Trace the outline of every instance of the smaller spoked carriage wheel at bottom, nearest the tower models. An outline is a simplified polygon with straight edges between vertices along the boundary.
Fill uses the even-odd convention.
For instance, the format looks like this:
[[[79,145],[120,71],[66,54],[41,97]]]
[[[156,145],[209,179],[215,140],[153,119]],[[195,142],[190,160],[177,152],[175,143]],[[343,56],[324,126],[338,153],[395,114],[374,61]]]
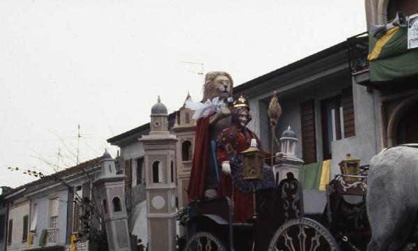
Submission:
[[[205,231],[192,235],[187,241],[184,251],[226,251],[219,238]]]

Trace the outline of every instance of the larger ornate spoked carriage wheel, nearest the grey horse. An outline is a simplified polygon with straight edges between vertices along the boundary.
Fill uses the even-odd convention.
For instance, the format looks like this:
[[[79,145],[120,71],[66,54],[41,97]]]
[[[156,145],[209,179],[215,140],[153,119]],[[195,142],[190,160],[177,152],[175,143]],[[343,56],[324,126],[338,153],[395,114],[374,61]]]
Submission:
[[[269,251],[339,251],[330,231],[309,218],[295,218],[281,225],[268,247]]]

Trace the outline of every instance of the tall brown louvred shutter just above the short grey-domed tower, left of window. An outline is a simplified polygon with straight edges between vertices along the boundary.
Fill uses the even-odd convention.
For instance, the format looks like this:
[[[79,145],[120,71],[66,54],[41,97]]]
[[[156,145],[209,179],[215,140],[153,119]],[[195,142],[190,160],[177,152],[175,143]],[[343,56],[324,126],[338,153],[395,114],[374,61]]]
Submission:
[[[316,162],[315,103],[314,100],[300,104],[302,130],[302,158],[304,164]]]

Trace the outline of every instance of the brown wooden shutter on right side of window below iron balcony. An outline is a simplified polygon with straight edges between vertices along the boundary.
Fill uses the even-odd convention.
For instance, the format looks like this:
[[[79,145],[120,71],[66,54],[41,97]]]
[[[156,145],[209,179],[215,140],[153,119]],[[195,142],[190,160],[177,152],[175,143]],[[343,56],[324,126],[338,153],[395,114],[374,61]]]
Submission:
[[[353,89],[342,90],[341,102],[343,105],[344,137],[355,136]]]

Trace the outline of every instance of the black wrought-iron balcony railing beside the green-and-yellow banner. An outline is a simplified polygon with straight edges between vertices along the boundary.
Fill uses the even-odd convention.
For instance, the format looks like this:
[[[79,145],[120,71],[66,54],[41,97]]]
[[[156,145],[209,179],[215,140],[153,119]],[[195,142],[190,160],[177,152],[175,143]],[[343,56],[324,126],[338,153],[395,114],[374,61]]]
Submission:
[[[363,70],[369,69],[369,36],[366,32],[347,38],[348,56],[350,60],[351,74],[355,75]]]

